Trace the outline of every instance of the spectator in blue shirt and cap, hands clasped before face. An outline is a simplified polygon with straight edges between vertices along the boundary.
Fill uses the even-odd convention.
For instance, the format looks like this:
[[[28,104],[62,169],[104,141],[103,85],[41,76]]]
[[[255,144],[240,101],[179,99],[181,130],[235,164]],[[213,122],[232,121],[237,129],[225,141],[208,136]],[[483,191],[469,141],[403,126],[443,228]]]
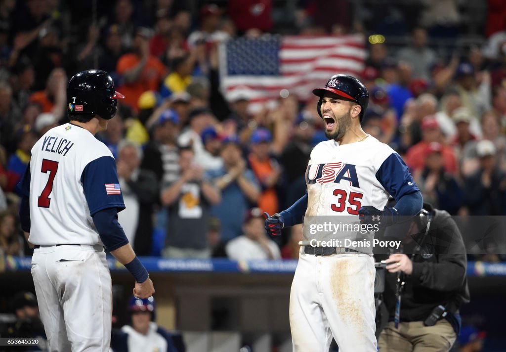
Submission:
[[[260,185],[243,159],[237,136],[227,136],[222,140],[220,155],[223,167],[207,172],[222,195],[221,203],[214,206],[211,213],[220,219],[223,240],[229,241],[242,234],[244,214],[251,203],[258,202]]]

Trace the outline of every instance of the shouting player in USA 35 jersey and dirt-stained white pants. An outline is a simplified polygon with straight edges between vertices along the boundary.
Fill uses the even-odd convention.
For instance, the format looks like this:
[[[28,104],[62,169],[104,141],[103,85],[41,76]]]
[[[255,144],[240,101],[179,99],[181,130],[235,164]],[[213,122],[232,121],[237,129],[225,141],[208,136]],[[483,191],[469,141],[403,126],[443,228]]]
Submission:
[[[290,292],[293,350],[327,352],[333,337],[340,352],[374,352],[371,246],[344,241],[371,241],[373,231],[338,231],[340,242],[331,242],[333,234],[310,231],[310,225],[330,220],[387,226],[401,215],[417,214],[423,201],[399,154],[362,130],[368,93],[360,81],[337,74],[313,94],[320,98],[318,113],[329,140],[311,152],[304,197],[266,220],[272,236],[279,236],[283,227],[304,222]],[[395,198],[395,208],[386,207],[389,196]]]

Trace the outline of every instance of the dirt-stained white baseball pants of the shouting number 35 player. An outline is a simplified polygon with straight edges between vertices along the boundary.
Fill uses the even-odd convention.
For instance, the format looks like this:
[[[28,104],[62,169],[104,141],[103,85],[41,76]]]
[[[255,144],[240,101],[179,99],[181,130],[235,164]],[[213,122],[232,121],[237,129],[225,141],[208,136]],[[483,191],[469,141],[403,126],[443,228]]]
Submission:
[[[367,254],[305,254],[290,292],[294,352],[376,352],[374,259]]]

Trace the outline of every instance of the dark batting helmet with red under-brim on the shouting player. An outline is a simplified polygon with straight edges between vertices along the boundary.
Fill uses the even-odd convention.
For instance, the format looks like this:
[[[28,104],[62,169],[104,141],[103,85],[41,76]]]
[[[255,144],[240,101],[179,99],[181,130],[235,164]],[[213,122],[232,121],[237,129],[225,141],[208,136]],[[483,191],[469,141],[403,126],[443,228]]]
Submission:
[[[323,88],[313,89],[313,94],[320,98],[318,101],[318,114],[321,115],[322,97],[326,92],[339,95],[342,99],[353,101],[362,107],[360,111],[360,121],[364,117],[367,104],[369,103],[369,93],[365,86],[355,77],[347,74],[334,74],[327,81]]]

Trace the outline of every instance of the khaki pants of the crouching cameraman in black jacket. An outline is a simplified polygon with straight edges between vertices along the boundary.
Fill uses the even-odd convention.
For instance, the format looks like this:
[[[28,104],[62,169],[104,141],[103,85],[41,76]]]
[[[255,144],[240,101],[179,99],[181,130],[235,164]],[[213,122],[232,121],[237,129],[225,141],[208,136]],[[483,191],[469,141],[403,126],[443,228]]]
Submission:
[[[447,352],[457,336],[447,320],[441,319],[434,326],[423,322],[388,323],[378,338],[379,352]]]

